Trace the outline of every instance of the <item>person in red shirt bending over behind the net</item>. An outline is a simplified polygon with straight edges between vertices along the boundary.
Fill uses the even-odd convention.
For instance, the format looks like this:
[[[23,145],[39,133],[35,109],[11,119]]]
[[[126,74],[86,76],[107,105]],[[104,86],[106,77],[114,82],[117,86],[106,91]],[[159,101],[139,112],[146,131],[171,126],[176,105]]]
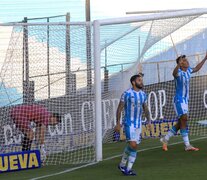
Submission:
[[[58,113],[50,113],[42,105],[19,105],[13,107],[10,111],[11,118],[16,127],[23,133],[22,151],[30,151],[34,135],[39,144],[41,160],[46,160],[46,150],[44,145],[46,127],[48,125],[57,125],[61,122],[61,116]],[[31,128],[31,122],[36,124],[36,131]]]

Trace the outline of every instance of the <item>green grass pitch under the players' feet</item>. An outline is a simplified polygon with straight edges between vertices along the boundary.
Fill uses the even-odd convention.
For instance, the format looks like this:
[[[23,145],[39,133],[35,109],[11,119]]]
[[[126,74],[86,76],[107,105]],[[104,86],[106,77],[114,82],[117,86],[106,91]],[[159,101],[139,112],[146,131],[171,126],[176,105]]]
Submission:
[[[104,161],[72,172],[63,172],[70,168],[69,165],[45,166],[35,170],[25,170],[0,174],[1,180],[24,180],[41,176],[43,179],[61,180],[205,180],[207,179],[207,139],[191,137],[192,144],[200,148],[198,152],[185,152],[182,139],[173,138],[168,152],[160,148],[159,139],[143,140],[140,144],[138,158],[133,169],[138,173],[136,177],[126,177],[117,169],[120,157],[126,143],[113,143],[104,145]],[[113,157],[113,158],[111,158]]]

